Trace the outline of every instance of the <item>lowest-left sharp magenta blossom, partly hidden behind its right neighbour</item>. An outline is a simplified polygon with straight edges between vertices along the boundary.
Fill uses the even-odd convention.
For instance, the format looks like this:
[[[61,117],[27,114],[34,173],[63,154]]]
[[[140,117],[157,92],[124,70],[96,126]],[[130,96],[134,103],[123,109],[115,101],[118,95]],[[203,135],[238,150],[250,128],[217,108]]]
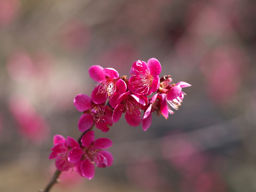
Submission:
[[[79,143],[72,137],[67,137],[67,140],[61,135],[55,135],[53,138],[54,146],[49,159],[56,159],[55,166],[60,171],[67,171],[74,167],[74,163],[68,161],[68,154],[72,148],[79,147]]]

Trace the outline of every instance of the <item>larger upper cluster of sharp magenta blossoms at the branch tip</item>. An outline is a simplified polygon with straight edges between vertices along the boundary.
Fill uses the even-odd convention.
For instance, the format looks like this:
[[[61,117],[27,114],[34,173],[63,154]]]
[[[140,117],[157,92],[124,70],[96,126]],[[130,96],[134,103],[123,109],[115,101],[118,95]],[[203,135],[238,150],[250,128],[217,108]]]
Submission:
[[[91,98],[80,94],[74,99],[74,105],[78,111],[83,112],[78,128],[80,131],[88,130],[93,122],[102,132],[107,132],[109,126],[118,122],[125,113],[126,122],[131,126],[138,126],[142,122],[142,128],[146,131],[152,121],[152,112],[162,114],[166,119],[170,109],[178,109],[185,93],[182,88],[191,86],[186,82],[169,84],[170,76],[161,79],[161,64],[155,58],[148,62],[136,61],[130,70],[131,78],[119,77],[119,73],[112,68],[102,68],[94,65],[89,68],[90,77],[99,82],[92,91]],[[149,95],[156,92],[152,98]],[[105,106],[109,99],[110,106]],[[144,115],[141,117],[141,110]]]

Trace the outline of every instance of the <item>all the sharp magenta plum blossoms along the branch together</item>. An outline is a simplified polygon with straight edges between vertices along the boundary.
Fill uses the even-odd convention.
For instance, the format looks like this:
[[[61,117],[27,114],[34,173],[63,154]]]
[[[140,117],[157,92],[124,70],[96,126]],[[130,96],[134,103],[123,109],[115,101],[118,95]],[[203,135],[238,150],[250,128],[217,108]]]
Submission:
[[[108,138],[94,141],[94,132],[89,131],[95,123],[97,129],[108,132],[109,126],[116,123],[125,113],[126,122],[131,126],[142,123],[146,131],[152,122],[152,113],[168,118],[171,110],[178,109],[185,93],[182,88],[191,86],[186,82],[172,82],[170,75],[159,78],[161,64],[155,58],[148,62],[138,60],[130,70],[131,77],[119,77],[113,68],[102,68],[94,65],[89,68],[89,75],[98,83],[91,97],[79,94],[74,98],[74,106],[83,112],[78,122],[78,129],[86,132],[81,145],[71,137],[65,140],[61,135],[55,135],[53,151],[49,159],[56,159],[58,170],[65,171],[75,167],[77,172],[88,179],[94,176],[94,163],[97,167],[112,165],[113,157],[110,152],[102,151],[112,146]],[[151,98],[149,95],[155,93]],[[109,99],[108,104],[106,104]],[[141,116],[141,110],[144,114]]]

